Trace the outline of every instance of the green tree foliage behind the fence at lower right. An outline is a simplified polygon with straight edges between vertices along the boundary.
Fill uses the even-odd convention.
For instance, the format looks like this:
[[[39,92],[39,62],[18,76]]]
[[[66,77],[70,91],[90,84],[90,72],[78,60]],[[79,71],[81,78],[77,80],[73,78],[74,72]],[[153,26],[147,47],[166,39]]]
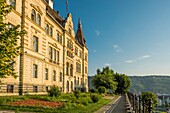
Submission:
[[[152,107],[154,107],[158,103],[156,94],[154,94],[153,92],[142,92],[141,98],[147,105],[149,103],[149,99],[151,99]]]

